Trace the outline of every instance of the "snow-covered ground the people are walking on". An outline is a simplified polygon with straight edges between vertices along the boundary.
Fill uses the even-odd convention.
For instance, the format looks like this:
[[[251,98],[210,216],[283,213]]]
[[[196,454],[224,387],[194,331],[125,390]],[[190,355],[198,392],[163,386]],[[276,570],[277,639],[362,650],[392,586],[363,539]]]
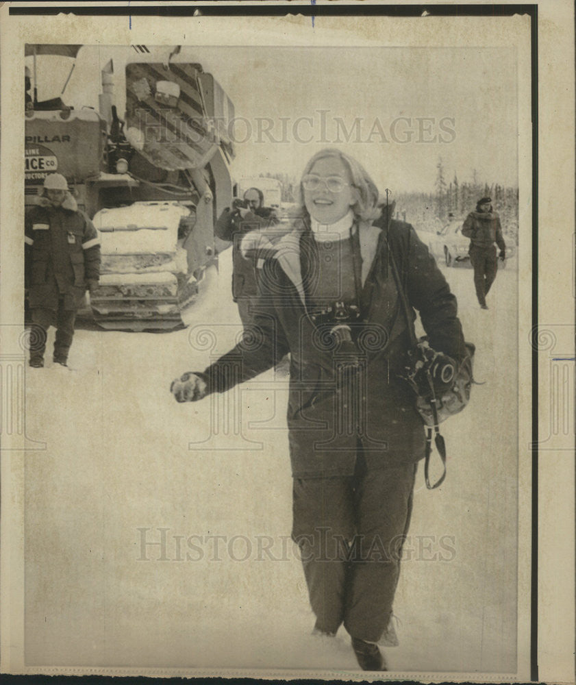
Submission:
[[[27,434],[47,443],[25,464],[29,665],[358,671],[343,629],[328,645],[310,636],[288,538],[286,377],[195,404],[168,392],[240,332],[229,253],[187,329],[81,327],[75,371],[27,370]],[[484,385],[444,424],[444,485],[427,491],[418,471],[401,644],[386,654],[417,677],[504,674],[516,671],[518,274],[499,271],[481,311],[471,269],[442,269]]]

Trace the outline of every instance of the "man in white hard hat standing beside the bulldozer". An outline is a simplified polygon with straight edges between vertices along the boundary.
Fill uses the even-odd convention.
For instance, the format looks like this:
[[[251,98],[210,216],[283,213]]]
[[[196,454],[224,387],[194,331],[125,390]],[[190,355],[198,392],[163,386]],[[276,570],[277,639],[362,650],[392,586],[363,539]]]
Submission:
[[[62,174],[45,178],[38,203],[25,221],[25,282],[34,329],[30,366],[44,366],[47,330],[56,327],[53,361],[67,366],[76,312],[84,292],[97,287],[100,238],[77,208]]]

